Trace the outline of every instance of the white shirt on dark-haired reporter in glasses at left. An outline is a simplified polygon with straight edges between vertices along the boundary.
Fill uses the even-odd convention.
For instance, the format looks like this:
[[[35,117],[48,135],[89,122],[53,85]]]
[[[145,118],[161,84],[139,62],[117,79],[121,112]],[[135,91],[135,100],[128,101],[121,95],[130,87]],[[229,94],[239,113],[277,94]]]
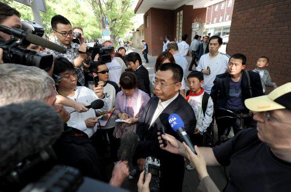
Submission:
[[[73,97],[68,97],[71,100],[75,100],[76,102],[84,103],[85,105],[90,105],[93,101],[99,99],[95,92],[89,88],[77,86],[76,90],[74,91],[75,95]],[[100,109],[101,111],[105,111],[107,109],[108,99],[105,97],[101,99],[104,102],[104,107]],[[69,106],[64,106],[65,110],[69,113],[73,112],[75,109]],[[87,128],[85,124],[85,120],[87,118],[96,118],[95,110],[89,109],[87,112],[78,113],[73,112],[71,113],[70,119],[67,121],[67,125],[69,127],[73,127],[75,129],[79,129],[80,131],[86,133],[90,138],[96,131],[97,125],[94,128]]]

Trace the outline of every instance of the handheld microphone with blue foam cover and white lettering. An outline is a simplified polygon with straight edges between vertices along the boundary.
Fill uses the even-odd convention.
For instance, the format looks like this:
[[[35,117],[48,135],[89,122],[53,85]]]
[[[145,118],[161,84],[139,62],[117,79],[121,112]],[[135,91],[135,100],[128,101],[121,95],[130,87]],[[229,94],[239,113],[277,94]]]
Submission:
[[[194,149],[194,145],[191,142],[188,134],[184,130],[184,123],[183,120],[178,116],[178,114],[173,113],[168,118],[169,123],[172,127],[172,129],[177,132],[180,135],[180,138],[186,143],[186,145],[194,152],[196,153]]]

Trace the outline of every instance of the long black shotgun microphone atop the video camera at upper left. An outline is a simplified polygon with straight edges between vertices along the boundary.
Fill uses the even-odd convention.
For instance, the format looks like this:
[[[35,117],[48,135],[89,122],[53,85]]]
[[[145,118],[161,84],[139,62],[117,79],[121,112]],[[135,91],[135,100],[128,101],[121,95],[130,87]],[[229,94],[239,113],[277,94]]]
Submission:
[[[66,52],[66,49],[63,46],[61,46],[59,44],[52,43],[52,42],[50,42],[42,37],[39,37],[39,36],[34,35],[32,33],[28,33],[24,30],[19,30],[16,28],[9,28],[9,27],[0,25],[0,31],[7,33],[9,35],[14,35],[14,36],[21,38],[21,39],[25,39],[26,41],[28,41],[32,44],[36,44],[36,45],[40,45],[40,46],[52,49],[52,50],[57,51],[59,53]]]

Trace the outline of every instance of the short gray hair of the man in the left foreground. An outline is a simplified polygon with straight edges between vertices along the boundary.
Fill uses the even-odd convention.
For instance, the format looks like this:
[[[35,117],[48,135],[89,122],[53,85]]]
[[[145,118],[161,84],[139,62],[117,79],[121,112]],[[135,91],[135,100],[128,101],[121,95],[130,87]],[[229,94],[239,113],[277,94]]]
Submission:
[[[53,105],[54,80],[42,69],[5,63],[0,65],[0,106],[38,100]]]

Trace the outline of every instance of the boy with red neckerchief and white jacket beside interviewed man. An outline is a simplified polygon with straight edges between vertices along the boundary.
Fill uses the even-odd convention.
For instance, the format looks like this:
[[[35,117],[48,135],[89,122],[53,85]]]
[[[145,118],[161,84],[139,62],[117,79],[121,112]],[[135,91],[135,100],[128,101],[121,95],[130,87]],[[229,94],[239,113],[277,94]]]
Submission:
[[[186,100],[192,106],[197,119],[194,134],[190,136],[194,145],[203,145],[203,133],[212,122],[213,102],[210,95],[201,87],[204,83],[203,73],[193,71],[187,76],[190,90],[187,91]],[[190,162],[186,168],[193,170],[194,166]]]

